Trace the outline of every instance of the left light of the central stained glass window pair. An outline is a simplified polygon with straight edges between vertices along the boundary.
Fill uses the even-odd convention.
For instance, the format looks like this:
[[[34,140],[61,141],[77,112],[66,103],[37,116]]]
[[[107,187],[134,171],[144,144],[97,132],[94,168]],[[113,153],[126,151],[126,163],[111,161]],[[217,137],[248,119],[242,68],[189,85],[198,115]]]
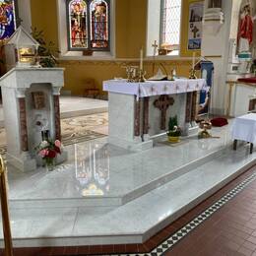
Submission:
[[[73,0],[69,3],[70,47],[88,48],[87,3]]]

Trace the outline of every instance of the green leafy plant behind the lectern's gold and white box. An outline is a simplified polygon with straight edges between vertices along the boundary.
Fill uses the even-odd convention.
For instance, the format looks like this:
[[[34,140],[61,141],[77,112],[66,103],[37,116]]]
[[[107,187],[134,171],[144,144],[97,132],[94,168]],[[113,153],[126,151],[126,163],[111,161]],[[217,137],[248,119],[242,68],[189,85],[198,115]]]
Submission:
[[[53,41],[46,42],[43,31],[38,31],[36,28],[32,29],[32,37],[40,44],[37,50],[39,64],[47,68],[55,67],[56,56],[59,53],[55,43]]]

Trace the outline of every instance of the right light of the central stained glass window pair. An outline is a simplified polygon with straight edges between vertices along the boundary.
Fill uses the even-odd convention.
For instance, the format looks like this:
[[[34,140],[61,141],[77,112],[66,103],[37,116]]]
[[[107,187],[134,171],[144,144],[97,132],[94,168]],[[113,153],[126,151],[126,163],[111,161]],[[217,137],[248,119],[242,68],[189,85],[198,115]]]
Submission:
[[[103,0],[94,0],[90,5],[91,46],[108,47],[108,5]]]

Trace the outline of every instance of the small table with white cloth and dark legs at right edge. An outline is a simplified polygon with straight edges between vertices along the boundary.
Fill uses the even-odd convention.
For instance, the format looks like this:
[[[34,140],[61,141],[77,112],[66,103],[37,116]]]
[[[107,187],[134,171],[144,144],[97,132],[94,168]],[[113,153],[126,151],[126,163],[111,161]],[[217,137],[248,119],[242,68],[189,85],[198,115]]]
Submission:
[[[237,141],[250,143],[250,154],[256,142],[256,113],[249,113],[235,118],[232,127],[233,150],[236,150]]]

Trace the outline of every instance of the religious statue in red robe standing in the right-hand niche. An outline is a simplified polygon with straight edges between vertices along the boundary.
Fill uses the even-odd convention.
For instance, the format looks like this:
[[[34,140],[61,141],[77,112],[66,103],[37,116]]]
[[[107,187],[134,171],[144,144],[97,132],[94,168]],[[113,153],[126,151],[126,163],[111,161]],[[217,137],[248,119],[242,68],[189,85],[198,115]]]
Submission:
[[[253,18],[249,4],[242,7],[238,30],[239,52],[249,51],[253,37]]]

